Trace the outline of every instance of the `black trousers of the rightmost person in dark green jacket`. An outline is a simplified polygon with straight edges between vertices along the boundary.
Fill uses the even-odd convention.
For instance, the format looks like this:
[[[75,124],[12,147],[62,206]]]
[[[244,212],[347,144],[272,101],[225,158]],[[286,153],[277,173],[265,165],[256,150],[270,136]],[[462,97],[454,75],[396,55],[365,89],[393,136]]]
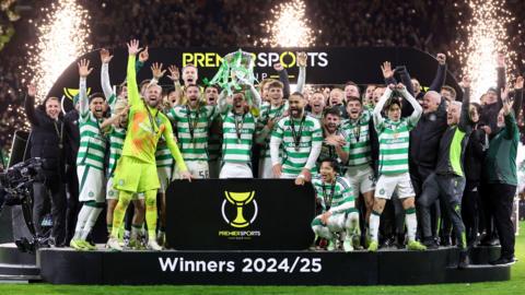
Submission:
[[[512,203],[516,186],[505,184],[489,184],[490,205],[493,209],[494,225],[501,244],[501,257],[514,257],[514,224],[512,223]]]

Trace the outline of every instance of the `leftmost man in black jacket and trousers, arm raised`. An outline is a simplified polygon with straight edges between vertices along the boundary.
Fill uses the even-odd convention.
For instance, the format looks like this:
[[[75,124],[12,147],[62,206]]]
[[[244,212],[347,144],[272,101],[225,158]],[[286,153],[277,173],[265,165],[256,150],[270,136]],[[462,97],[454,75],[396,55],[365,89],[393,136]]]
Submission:
[[[46,203],[51,208],[52,228],[48,241],[42,239],[43,246],[62,246],[65,238],[66,194],[63,179],[63,143],[66,140],[65,125],[60,114],[60,101],[47,97],[43,105],[35,108],[36,87],[27,87],[25,111],[32,126],[30,139],[31,157],[43,160],[43,173],[33,184],[34,208],[33,222],[36,235],[44,237],[42,220]]]

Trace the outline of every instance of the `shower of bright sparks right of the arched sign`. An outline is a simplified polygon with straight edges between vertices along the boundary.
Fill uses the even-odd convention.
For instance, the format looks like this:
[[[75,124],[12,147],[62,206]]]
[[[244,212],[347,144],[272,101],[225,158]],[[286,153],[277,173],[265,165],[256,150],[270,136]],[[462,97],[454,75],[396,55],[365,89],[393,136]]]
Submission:
[[[497,83],[497,56],[506,56],[506,75],[512,79],[517,55],[508,48],[506,26],[514,21],[503,0],[463,0],[471,10],[468,22],[458,28],[468,34],[456,42],[456,56],[463,64],[463,73],[472,80],[472,99],[477,101]],[[457,7],[457,4],[456,4]]]

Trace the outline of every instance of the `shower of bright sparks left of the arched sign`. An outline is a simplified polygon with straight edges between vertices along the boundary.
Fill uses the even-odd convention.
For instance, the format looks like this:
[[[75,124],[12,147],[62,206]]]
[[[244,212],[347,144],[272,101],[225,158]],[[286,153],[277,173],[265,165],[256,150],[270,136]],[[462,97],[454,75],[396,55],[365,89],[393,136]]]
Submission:
[[[25,80],[36,84],[39,99],[71,62],[92,49],[86,42],[90,15],[74,0],[58,0],[42,11],[45,16],[35,23],[38,40],[26,44],[28,71],[23,73]]]

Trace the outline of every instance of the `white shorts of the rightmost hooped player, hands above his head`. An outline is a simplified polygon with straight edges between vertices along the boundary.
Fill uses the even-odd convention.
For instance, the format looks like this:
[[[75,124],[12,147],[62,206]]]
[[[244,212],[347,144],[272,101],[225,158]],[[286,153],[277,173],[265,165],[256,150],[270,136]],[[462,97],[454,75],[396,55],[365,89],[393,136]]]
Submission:
[[[412,181],[408,173],[395,175],[382,175],[375,185],[375,198],[389,200],[392,194],[396,193],[397,198],[405,199],[415,197]]]

